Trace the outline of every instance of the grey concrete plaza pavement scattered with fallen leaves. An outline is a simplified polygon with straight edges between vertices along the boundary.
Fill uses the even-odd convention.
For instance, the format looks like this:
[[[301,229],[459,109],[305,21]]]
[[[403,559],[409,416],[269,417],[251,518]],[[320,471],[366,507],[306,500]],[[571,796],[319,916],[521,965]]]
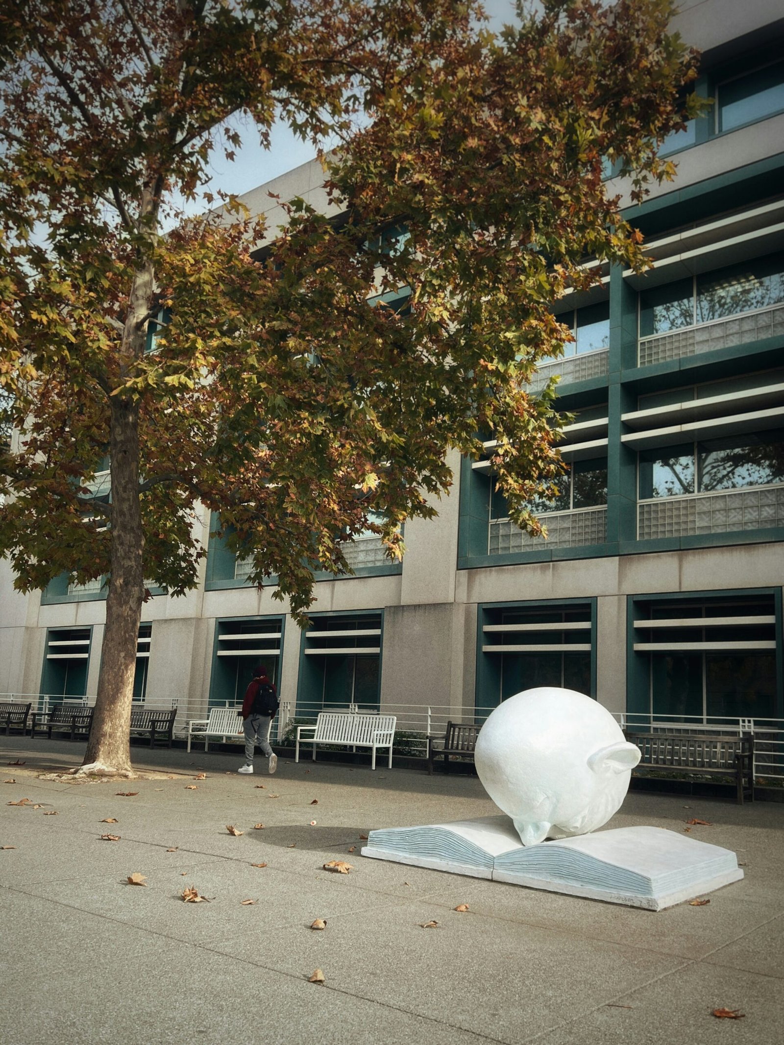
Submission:
[[[16,846],[0,851],[2,1045],[781,1041],[782,805],[629,795],[610,827],[709,820],[692,836],[746,873],[706,906],[653,913],[360,856],[372,828],[493,812],[474,777],[284,759],[238,776],[238,749],[142,747],[155,779],[38,775],[82,751],[0,738],[0,781],[16,780],[0,784],[0,845]],[[185,885],[210,903],[183,903]],[[307,982],[317,968],[324,985]]]

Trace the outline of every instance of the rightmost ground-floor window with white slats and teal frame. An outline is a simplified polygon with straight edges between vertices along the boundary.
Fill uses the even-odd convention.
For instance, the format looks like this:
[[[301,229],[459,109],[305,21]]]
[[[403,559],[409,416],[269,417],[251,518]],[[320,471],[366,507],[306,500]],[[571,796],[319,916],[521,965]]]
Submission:
[[[635,656],[660,720],[761,720],[777,713],[774,596],[635,600]]]

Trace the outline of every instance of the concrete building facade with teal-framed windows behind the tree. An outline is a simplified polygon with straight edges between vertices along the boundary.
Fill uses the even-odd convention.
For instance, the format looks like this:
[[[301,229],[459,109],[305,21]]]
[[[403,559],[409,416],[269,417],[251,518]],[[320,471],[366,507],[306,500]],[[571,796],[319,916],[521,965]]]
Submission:
[[[437,519],[407,524],[402,564],[359,540],[356,576],[318,580],[300,632],[202,513],[198,589],[144,607],[139,699],[199,717],[241,698],[262,658],[291,714],[429,704],[468,720],[563,684],[618,713],[784,718],[780,16],[774,0],[683,4],[676,27],[704,53],[695,90],[714,104],[665,143],[675,182],[625,210],[653,269],[607,269],[559,304],[576,341],[537,381],[560,375],[575,421],[569,480],[541,506],[549,539],[508,520],[488,463],[455,455],[454,489]],[[268,192],[323,207],[321,181],[305,164],[245,202],[274,227]],[[95,694],[98,586],[22,597],[0,568],[0,691]]]

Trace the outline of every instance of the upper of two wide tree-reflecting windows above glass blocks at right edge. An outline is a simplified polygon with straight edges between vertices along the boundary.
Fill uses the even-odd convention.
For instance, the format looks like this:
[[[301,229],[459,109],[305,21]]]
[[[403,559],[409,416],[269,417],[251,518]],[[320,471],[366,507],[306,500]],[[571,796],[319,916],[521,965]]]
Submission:
[[[640,294],[640,336],[667,333],[784,302],[784,253],[768,254]]]

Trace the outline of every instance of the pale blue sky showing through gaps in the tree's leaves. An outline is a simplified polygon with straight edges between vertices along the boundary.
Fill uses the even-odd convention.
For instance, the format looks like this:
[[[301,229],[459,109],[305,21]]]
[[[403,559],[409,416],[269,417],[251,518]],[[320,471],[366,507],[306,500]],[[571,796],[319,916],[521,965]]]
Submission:
[[[493,31],[499,31],[504,24],[514,21],[513,0],[484,0],[484,8]],[[269,149],[259,145],[252,126],[236,122],[233,125],[243,137],[241,148],[235,150],[233,162],[225,159],[220,145],[213,150],[210,162],[212,171],[210,188],[221,188],[226,192],[241,195],[302,163],[307,163],[316,156],[313,145],[297,138],[284,124],[277,123],[273,126]],[[185,209],[194,213],[202,210],[203,206],[201,202],[194,202]]]

